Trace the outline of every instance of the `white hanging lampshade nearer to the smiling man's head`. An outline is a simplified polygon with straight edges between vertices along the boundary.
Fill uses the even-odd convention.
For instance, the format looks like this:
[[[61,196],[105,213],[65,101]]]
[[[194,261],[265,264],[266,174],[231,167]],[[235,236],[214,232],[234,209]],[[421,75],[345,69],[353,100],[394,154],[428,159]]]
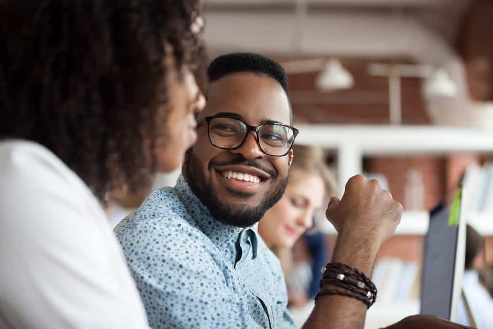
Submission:
[[[330,59],[318,74],[315,84],[320,90],[349,89],[354,85],[354,79],[338,60]]]

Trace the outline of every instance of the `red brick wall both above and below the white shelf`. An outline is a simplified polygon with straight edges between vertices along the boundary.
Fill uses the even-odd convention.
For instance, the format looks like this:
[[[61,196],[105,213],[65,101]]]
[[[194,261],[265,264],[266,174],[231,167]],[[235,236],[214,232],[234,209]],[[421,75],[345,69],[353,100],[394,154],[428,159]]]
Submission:
[[[279,62],[294,58],[278,58]],[[387,78],[368,75],[369,63],[411,63],[406,59],[342,59],[342,64],[354,77],[350,90],[320,92],[315,86],[318,72],[289,75],[290,99],[295,121],[305,123],[386,124],[389,121]],[[403,78],[403,124],[430,124],[421,80]],[[428,157],[367,158],[367,172],[384,174],[395,199],[404,203],[406,173],[418,170],[424,180],[425,209],[431,209],[458,187],[467,164],[479,161],[476,154],[452,154]]]

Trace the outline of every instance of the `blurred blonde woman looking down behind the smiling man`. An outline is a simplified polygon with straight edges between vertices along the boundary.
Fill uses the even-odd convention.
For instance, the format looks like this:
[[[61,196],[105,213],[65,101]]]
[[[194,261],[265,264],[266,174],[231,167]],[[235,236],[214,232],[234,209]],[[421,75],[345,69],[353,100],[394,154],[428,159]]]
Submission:
[[[262,217],[258,233],[280,256],[290,306],[301,307],[318,293],[320,268],[327,263],[324,235],[314,227],[313,219],[334,194],[335,180],[320,148],[294,145],[293,152],[296,156],[286,191]]]

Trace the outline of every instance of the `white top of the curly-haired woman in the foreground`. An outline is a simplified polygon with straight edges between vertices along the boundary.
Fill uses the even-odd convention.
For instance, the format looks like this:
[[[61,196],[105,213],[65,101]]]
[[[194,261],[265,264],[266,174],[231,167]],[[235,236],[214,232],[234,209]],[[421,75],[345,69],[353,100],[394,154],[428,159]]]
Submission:
[[[0,328],[146,328],[98,200],[52,152],[0,142]]]

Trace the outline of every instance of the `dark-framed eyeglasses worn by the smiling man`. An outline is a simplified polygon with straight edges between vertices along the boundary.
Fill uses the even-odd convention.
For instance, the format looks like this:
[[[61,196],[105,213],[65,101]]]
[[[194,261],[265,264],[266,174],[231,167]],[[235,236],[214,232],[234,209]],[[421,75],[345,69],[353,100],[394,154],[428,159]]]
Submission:
[[[253,126],[227,116],[205,117],[198,120],[197,125],[203,122],[207,122],[209,141],[219,149],[238,149],[247,139],[248,133],[255,132],[260,150],[272,156],[287,155],[299,133],[295,127],[287,124],[267,123]]]

